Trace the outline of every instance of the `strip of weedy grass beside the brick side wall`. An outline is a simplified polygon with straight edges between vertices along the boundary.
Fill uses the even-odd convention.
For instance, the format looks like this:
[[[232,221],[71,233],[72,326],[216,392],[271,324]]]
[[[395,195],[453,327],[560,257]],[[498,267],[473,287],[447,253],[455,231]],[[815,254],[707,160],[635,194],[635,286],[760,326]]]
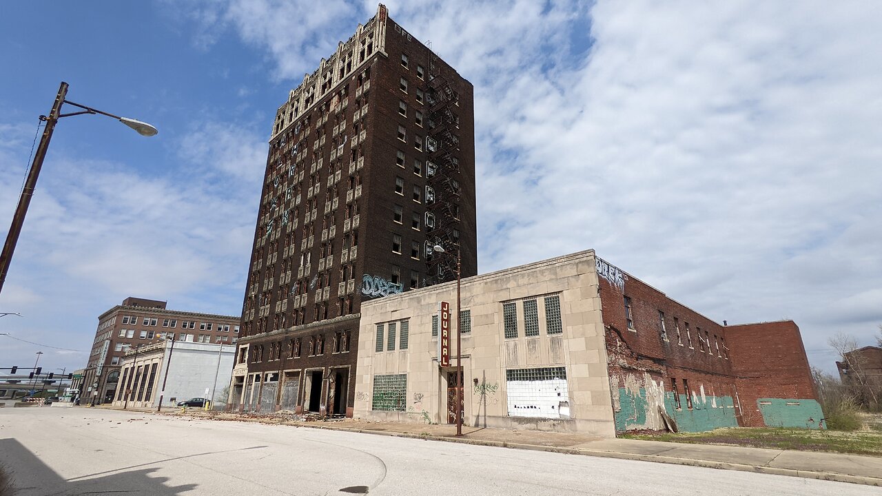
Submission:
[[[864,428],[855,432],[809,431],[806,429],[773,429],[730,427],[707,432],[663,434],[625,434],[631,440],[669,441],[691,444],[767,447],[827,453],[882,456],[882,428]]]

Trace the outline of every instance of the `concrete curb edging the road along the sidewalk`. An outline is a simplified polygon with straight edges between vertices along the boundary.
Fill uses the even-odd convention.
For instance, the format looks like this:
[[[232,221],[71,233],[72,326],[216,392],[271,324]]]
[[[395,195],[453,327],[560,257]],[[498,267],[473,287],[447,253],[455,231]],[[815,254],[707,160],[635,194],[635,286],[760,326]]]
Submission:
[[[156,413],[156,412],[152,412]],[[160,413],[162,415],[163,412]],[[169,412],[171,413],[171,412]],[[192,416],[187,416],[192,417]],[[212,417],[192,417],[198,418],[202,420],[215,420]],[[295,427],[310,427],[312,429],[324,429],[326,431],[343,431],[343,432],[358,432],[363,434],[374,434],[379,436],[388,436],[393,438],[409,438],[415,440],[433,440],[433,441],[443,441],[443,442],[452,442],[452,443],[460,443],[460,444],[470,444],[475,446],[489,446],[489,447],[510,447],[515,449],[527,449],[532,451],[545,451],[549,453],[562,453],[564,455],[587,455],[587,456],[598,456],[603,458],[617,458],[619,460],[636,460],[639,462],[656,462],[656,463],[670,463],[675,465],[687,465],[692,467],[704,467],[707,469],[718,469],[718,470],[738,470],[743,472],[754,472],[759,474],[768,474],[768,475],[777,475],[777,476],[788,476],[788,477],[803,477],[803,478],[812,478],[818,480],[829,480],[833,482],[845,482],[849,484],[860,484],[860,485],[873,485],[882,487],[882,478],[879,477],[862,477],[862,476],[851,476],[848,474],[839,474],[835,472],[817,472],[813,470],[795,470],[795,469],[782,469],[779,467],[764,467],[759,465],[748,465],[745,463],[733,463],[733,462],[712,462],[708,460],[697,460],[694,458],[679,458],[676,456],[663,456],[663,455],[643,455],[638,453],[622,453],[617,451],[602,451],[595,449],[581,449],[581,448],[573,448],[573,447],[551,447],[551,446],[542,446],[542,445],[534,445],[534,444],[521,444],[521,443],[511,443],[505,441],[491,441],[491,440],[475,440],[469,438],[455,438],[455,437],[445,437],[445,436],[435,436],[435,435],[423,435],[423,434],[413,434],[410,432],[393,432],[393,431],[374,431],[370,429],[355,429],[351,427],[343,427],[338,425],[317,425],[313,422],[293,422],[293,423],[273,423],[273,422],[263,422],[263,419],[260,418],[235,418],[230,419],[237,422],[258,422],[261,424],[269,424],[269,425],[293,425]]]

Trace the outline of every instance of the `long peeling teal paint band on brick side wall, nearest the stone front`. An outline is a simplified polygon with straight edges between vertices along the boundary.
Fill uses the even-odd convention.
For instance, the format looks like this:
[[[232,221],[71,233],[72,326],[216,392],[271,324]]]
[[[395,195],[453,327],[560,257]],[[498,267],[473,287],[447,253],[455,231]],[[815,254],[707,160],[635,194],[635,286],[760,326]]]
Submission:
[[[714,408],[714,400],[716,408]],[[619,387],[618,401],[620,410],[616,413],[616,430],[618,432],[650,429],[655,431],[665,430],[661,417],[649,407],[647,391],[639,389],[638,395],[633,395],[628,389]],[[692,402],[692,409],[686,408],[686,395],[680,395],[681,410],[676,410],[674,393],[665,391],[664,407],[668,415],[676,421],[677,428],[681,432],[711,431],[719,427],[736,427],[738,422],[735,418],[734,402],[731,396],[706,396],[706,402],[702,402],[699,396],[697,402]],[[655,410],[658,407],[654,407]],[[647,420],[648,418],[648,420]]]

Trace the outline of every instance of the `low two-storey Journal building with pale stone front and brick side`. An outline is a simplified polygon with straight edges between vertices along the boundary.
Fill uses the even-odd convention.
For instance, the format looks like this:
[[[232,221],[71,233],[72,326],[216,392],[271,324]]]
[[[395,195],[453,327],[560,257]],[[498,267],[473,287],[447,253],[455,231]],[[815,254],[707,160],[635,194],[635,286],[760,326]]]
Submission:
[[[355,417],[453,422],[445,304],[462,336],[466,425],[602,436],[821,425],[795,324],[721,326],[593,251],[464,279],[459,326],[455,282],[363,304]]]

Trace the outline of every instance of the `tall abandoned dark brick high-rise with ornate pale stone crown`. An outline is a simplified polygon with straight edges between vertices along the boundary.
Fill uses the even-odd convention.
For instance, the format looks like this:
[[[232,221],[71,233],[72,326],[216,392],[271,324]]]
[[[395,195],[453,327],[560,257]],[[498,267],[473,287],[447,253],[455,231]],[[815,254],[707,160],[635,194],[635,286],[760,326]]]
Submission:
[[[361,302],[455,279],[457,247],[462,275],[477,273],[472,95],[382,4],[288,94],[260,196],[236,409],[351,416]]]

